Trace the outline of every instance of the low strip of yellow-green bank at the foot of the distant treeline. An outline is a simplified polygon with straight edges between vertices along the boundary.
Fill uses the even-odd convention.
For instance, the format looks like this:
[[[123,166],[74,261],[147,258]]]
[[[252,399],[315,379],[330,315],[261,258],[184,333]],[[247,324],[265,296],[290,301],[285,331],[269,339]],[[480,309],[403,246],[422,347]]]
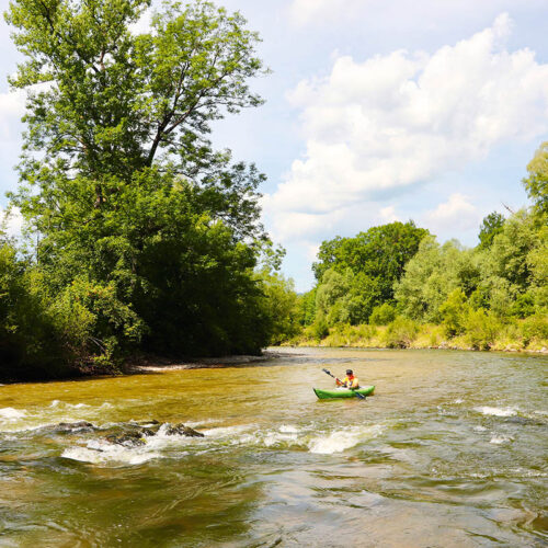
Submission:
[[[354,349],[439,349],[465,351],[529,352],[548,354],[548,339],[528,335],[520,326],[504,326],[491,332],[478,329],[473,333],[447,336],[444,326],[416,324],[410,320],[390,326],[336,326],[319,339],[311,329],[283,346],[320,346]]]

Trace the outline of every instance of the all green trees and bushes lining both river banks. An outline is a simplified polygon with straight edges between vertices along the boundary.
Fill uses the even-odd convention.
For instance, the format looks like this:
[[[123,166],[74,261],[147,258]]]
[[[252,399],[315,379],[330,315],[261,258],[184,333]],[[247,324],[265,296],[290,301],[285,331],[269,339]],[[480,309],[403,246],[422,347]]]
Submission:
[[[298,296],[260,222],[256,168],[208,139],[258,106],[267,72],[246,21],[209,2],[15,0],[27,130],[0,231],[0,377],[116,372],[128,356],[258,354],[267,344],[540,350],[548,339],[548,144],[534,206],[483,221],[473,250],[412,221],[320,248]],[[378,327],[385,326],[385,327]]]

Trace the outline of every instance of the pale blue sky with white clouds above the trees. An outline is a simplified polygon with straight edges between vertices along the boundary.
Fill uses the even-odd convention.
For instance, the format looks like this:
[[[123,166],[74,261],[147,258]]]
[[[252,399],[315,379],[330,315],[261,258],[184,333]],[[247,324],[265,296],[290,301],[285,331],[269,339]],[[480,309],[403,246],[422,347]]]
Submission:
[[[477,241],[548,139],[546,0],[226,0],[260,32],[266,104],[216,124],[214,142],[253,161],[283,272],[310,288],[318,246],[413,219]],[[5,10],[8,2],[0,0]],[[16,184],[18,54],[0,25],[0,191]],[[7,203],[1,198],[0,205]]]

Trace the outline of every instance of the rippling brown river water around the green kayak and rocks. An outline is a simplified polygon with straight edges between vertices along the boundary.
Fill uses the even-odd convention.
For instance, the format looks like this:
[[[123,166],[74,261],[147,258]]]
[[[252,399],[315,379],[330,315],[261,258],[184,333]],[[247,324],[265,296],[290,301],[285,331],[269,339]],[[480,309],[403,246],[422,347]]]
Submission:
[[[546,546],[548,358],[279,352],[0,386],[0,546]],[[318,400],[322,367],[375,396]],[[152,419],[205,437],[105,439]]]

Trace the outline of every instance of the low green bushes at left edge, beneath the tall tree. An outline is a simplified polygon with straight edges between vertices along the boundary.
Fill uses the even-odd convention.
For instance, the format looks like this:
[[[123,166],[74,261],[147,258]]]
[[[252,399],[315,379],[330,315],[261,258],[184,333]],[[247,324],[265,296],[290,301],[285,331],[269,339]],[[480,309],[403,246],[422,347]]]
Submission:
[[[83,365],[112,369],[142,322],[112,285],[77,278],[64,289],[38,266],[0,244],[0,377],[73,375]]]

